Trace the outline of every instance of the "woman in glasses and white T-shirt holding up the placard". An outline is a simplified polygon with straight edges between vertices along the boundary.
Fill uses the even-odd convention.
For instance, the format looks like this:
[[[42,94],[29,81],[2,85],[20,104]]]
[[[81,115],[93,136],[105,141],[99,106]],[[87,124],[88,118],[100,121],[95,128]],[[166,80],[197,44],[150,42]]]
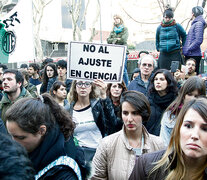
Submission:
[[[95,88],[100,89],[100,99]],[[107,134],[113,121],[109,121],[113,113],[112,103],[106,98],[106,84],[101,80],[93,83],[73,81],[68,95],[69,112],[76,123],[74,137],[85,152],[86,161],[92,161],[99,141]]]

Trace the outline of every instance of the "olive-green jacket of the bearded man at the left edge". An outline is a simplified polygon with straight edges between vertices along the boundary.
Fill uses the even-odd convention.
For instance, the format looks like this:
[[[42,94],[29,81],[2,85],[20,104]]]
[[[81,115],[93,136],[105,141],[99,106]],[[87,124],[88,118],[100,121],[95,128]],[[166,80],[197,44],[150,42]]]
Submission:
[[[10,101],[10,99],[8,98],[7,93],[3,94],[3,98],[0,102],[0,110],[1,110],[1,118],[2,120],[5,122],[5,113],[7,111],[7,109],[9,109],[9,107],[14,104],[17,100],[24,98],[24,97],[32,97],[31,94],[29,93],[29,91],[27,91],[24,87],[22,87],[21,89],[21,93],[19,95],[19,97],[17,97],[14,101]]]

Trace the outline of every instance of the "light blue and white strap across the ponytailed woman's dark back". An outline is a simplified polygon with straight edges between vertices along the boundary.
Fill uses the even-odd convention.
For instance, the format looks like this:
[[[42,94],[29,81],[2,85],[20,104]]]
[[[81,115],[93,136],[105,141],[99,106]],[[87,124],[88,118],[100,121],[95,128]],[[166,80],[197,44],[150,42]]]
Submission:
[[[35,180],[38,180],[53,167],[61,165],[70,167],[75,172],[78,180],[82,180],[81,171],[77,162],[68,156],[60,156],[58,159],[48,164],[44,169],[40,170],[37,175],[35,175]]]

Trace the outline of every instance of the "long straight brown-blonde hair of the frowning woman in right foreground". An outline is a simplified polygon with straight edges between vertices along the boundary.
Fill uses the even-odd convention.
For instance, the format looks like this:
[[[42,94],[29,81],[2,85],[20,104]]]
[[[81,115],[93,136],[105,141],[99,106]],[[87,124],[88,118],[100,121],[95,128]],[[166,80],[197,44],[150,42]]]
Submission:
[[[153,175],[153,172],[156,172],[159,168],[165,167],[164,170],[168,171],[168,175],[165,178],[166,180],[174,180],[176,179],[183,179],[186,175],[186,166],[183,157],[183,151],[180,146],[180,128],[183,123],[183,119],[185,114],[189,109],[195,110],[205,122],[207,122],[207,99],[204,97],[200,97],[198,99],[193,99],[183,106],[182,110],[180,111],[176,125],[172,131],[170,143],[168,148],[163,155],[162,159],[156,163],[156,166],[150,172],[150,175]],[[172,155],[172,159],[169,160],[169,155]],[[207,158],[206,158],[207,161]],[[199,180],[203,179],[205,168],[207,168],[207,162],[204,163],[202,167],[200,167],[200,171],[198,171],[192,179]]]

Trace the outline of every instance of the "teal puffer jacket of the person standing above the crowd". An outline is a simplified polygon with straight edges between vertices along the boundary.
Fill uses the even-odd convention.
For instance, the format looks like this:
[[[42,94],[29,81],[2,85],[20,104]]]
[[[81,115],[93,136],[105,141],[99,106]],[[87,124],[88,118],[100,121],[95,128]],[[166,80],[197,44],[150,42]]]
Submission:
[[[172,52],[180,49],[180,37],[182,44],[186,40],[186,32],[180,24],[172,26],[158,26],[156,31],[156,49],[160,52]]]

